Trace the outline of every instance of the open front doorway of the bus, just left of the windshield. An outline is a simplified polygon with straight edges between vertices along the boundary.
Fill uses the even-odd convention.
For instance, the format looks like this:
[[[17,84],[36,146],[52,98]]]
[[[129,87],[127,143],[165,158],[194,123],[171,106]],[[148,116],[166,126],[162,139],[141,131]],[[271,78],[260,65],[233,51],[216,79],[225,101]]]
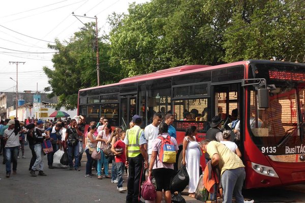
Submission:
[[[212,88],[214,96],[212,96],[212,117],[219,115],[224,120],[223,129],[231,129],[232,124],[235,125],[236,120],[240,120],[242,114],[241,103],[241,84],[224,84],[215,85]],[[233,122],[235,121],[235,122]],[[242,123],[242,122],[240,122]],[[231,140],[234,140],[234,134]]]

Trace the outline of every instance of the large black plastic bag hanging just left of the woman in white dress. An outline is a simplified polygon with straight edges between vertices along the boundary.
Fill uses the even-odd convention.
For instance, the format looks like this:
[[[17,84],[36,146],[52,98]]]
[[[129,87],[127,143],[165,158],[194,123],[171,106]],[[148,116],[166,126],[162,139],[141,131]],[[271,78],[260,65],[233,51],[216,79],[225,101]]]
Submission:
[[[177,174],[173,177],[170,183],[171,192],[182,192],[189,184],[190,177],[187,171],[187,167],[183,166],[179,169]]]

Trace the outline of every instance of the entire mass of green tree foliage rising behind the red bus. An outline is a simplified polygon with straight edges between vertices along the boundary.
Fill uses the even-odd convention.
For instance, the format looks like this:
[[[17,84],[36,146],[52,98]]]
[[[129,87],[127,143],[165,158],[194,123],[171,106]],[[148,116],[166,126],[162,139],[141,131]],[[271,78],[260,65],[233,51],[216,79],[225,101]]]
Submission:
[[[185,64],[247,59],[302,60],[305,2],[301,0],[151,0],[113,13],[99,39],[101,84]],[[44,67],[58,107],[76,107],[80,88],[95,86],[95,24],[69,42],[49,45],[54,70]],[[66,44],[67,43],[67,44]]]

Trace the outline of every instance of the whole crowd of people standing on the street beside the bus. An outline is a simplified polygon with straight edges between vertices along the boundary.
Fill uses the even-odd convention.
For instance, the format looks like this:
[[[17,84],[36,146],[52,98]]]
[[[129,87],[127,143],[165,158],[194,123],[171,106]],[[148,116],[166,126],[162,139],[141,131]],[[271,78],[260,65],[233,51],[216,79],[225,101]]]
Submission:
[[[143,130],[140,127],[142,117],[134,115],[130,129],[124,131],[119,127],[111,126],[107,118],[101,117],[98,123],[90,122],[85,131],[86,122],[83,116],[76,116],[66,121],[60,119],[43,121],[28,118],[24,122],[19,122],[17,119],[6,119],[1,121],[0,125],[0,152],[3,153],[3,163],[6,164],[6,177],[10,178],[12,171],[13,174],[17,174],[19,151],[22,153],[22,158],[25,158],[25,138],[32,152],[28,168],[30,175],[33,177],[47,176],[44,173],[42,143],[45,140],[50,140],[53,148],[53,152],[47,154],[50,169],[54,168],[54,153],[57,150],[65,150],[68,152],[69,158],[68,169],[80,171],[82,153],[85,152],[87,157],[85,178],[111,179],[110,182],[117,185],[119,192],[127,190],[126,202],[134,203],[141,202],[140,188],[145,179],[146,171],[146,175],[153,176],[156,181],[157,197],[155,202],[161,202],[162,191],[164,191],[165,201],[170,203],[170,181],[177,168],[174,167],[173,162],[164,161],[160,154],[163,153],[164,139],[172,144],[173,151],[177,153],[179,150],[176,130],[172,126],[173,121],[174,116],[170,113],[165,115],[155,113],[151,124]],[[241,186],[245,180],[245,166],[239,158],[241,153],[237,145],[230,141],[230,136],[234,132],[223,131],[221,126],[221,116],[215,116],[206,132],[207,139],[201,143],[196,139],[197,128],[195,126],[190,126],[186,130],[182,144],[181,163],[186,166],[190,177],[189,196],[195,197],[200,176],[200,156],[204,151],[206,162],[211,161],[213,166],[219,165],[220,167],[224,202],[230,202],[233,192],[236,202],[241,202]],[[112,155],[104,153],[109,145]],[[230,152],[224,151],[224,147]],[[94,151],[101,155],[98,160],[92,157]],[[112,161],[111,169],[108,167],[110,161]],[[11,163],[13,163],[12,170]],[[123,187],[123,176],[127,169],[126,189]],[[38,174],[36,174],[37,171]],[[234,181],[231,180],[233,176]]]

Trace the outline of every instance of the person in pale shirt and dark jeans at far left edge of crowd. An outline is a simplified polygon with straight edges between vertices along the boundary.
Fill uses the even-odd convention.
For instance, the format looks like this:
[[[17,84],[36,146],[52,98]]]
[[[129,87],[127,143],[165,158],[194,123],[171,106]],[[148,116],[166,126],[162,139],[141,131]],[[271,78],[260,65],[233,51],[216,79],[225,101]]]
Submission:
[[[11,176],[11,162],[13,162],[13,174],[17,174],[17,156],[19,147],[18,132],[15,132],[15,121],[10,120],[8,122],[8,129],[4,130],[3,139],[6,141],[6,177]]]

